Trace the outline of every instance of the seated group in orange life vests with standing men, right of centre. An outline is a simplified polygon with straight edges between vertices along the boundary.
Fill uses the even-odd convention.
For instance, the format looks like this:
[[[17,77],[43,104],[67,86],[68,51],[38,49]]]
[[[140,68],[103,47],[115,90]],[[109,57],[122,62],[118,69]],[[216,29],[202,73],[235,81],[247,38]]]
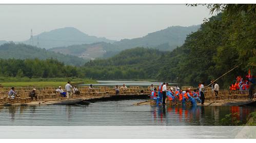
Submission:
[[[186,91],[183,91],[178,86],[168,88],[168,83],[161,83],[156,89],[153,84],[150,86],[150,99],[155,100],[156,105],[166,104],[166,98],[168,101],[175,103],[175,100],[179,100],[182,104],[185,104],[186,101],[189,101],[192,105],[196,105],[197,102],[204,104],[204,84],[199,83],[197,90],[191,90],[188,88]],[[157,90],[157,91],[156,91]],[[157,94],[156,94],[157,92]]]

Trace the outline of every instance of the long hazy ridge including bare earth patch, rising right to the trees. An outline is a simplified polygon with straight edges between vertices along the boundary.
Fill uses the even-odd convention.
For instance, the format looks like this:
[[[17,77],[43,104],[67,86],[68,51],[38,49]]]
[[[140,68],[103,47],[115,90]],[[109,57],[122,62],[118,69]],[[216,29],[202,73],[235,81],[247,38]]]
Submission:
[[[141,38],[124,39],[114,43],[92,43],[54,47],[49,51],[54,51],[62,54],[70,54],[85,59],[107,58],[111,57],[123,50],[133,47],[152,47],[160,51],[172,51],[177,46],[181,46],[187,35],[191,32],[196,32],[200,28],[198,26],[181,27],[174,26],[164,30],[149,33]]]

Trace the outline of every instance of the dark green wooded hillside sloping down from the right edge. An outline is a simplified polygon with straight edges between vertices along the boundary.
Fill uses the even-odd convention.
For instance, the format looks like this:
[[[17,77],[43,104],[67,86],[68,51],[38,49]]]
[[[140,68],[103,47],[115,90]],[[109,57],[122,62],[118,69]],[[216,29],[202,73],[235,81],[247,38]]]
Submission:
[[[212,11],[220,9],[223,11],[206,20],[199,31],[190,34],[185,43],[174,51],[152,54],[147,60],[142,53],[137,57],[129,57],[131,51],[137,53],[138,49],[124,51],[108,60],[87,63],[86,75],[105,79],[106,77],[102,77],[101,74],[95,76],[95,73],[106,70],[104,73],[112,73],[109,75],[114,77],[108,78],[116,79],[127,75],[128,70],[135,70],[137,73],[123,78],[157,79],[196,85],[198,82],[209,82],[218,78],[235,65],[242,63],[219,80],[221,86],[228,87],[238,75],[245,76],[249,68],[255,74],[255,5],[209,5],[208,7]],[[137,64],[133,61],[137,61]],[[94,75],[91,75],[90,69],[93,69]]]

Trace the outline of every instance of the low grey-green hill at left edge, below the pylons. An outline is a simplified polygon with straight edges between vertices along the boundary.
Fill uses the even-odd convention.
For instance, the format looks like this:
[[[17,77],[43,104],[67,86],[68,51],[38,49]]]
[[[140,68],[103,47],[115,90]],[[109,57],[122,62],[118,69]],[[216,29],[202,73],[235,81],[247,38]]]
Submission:
[[[0,58],[2,59],[57,59],[68,65],[83,65],[86,60],[71,55],[63,55],[26,44],[15,44],[13,42],[0,45]]]

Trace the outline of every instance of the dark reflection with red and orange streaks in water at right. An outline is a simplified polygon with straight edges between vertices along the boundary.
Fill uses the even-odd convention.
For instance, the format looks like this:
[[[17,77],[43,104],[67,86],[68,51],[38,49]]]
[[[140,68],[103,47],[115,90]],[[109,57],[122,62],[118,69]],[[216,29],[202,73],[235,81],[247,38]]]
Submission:
[[[232,117],[236,117],[239,121],[245,123],[248,114],[255,110],[239,106],[224,107],[209,106],[151,106],[152,121],[168,122],[175,120],[175,123],[191,123],[198,125],[221,125],[220,121],[226,114],[231,113]],[[157,112],[156,112],[157,111]],[[157,113],[157,114],[156,114]],[[191,125],[190,124],[190,125]],[[184,124],[187,125],[187,124]]]

